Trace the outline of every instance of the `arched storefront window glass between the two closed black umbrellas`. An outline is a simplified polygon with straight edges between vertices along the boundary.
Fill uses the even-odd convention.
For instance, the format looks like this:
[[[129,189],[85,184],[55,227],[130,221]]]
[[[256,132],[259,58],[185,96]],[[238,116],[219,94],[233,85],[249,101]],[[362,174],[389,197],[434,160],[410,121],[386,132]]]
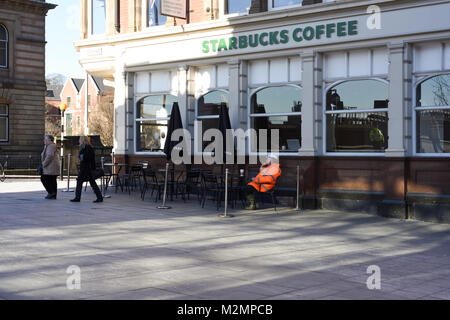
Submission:
[[[229,101],[229,93],[222,90],[208,92],[198,99],[197,121],[202,124],[202,136],[208,129],[219,128],[220,105],[225,103],[229,108]],[[203,141],[203,149],[210,143],[210,141]]]

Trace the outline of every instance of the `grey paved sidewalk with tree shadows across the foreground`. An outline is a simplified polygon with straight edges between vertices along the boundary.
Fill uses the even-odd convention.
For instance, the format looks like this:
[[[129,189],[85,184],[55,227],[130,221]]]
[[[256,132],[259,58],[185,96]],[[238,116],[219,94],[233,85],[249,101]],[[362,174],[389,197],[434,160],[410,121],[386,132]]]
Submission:
[[[450,299],[450,225],[287,208],[222,219],[211,202],[44,196],[38,181],[0,183],[0,299]],[[80,289],[67,288],[70,266]]]

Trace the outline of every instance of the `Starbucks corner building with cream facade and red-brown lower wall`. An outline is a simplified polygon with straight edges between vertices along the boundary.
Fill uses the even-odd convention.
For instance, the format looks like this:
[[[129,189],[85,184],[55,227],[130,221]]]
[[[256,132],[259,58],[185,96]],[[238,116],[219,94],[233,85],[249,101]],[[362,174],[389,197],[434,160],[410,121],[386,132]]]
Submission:
[[[116,161],[166,161],[174,101],[203,155],[195,129],[226,103],[234,129],[279,129],[280,185],[300,166],[304,207],[450,221],[449,0],[190,0],[186,19],[104,3],[99,21],[81,0],[75,47],[115,84]]]

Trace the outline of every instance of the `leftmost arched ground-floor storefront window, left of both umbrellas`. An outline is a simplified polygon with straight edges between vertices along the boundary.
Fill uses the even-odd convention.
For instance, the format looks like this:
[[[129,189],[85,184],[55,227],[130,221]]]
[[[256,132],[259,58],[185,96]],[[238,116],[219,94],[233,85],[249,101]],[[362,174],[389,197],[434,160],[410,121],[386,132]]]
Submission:
[[[170,94],[151,95],[137,103],[136,151],[164,149],[170,113],[178,98]]]

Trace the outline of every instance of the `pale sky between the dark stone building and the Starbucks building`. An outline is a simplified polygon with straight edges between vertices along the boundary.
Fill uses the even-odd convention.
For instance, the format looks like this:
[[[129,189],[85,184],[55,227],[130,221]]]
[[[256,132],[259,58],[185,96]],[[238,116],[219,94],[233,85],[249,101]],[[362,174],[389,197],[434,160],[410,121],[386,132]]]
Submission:
[[[80,0],[47,0],[58,5],[47,13],[45,74],[84,78],[73,41],[80,38]]]

